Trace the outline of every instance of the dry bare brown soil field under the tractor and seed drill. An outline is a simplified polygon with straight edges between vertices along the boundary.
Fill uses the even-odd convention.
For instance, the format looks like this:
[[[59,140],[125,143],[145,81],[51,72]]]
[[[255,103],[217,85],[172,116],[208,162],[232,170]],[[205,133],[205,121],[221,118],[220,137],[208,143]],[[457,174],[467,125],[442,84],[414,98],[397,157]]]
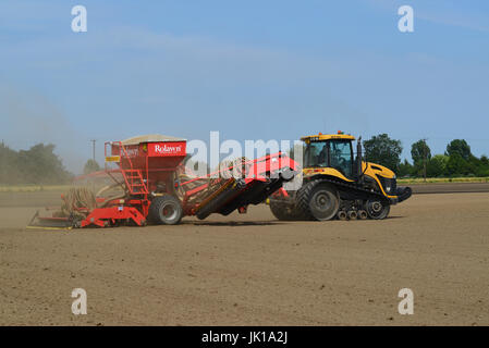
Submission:
[[[285,223],[261,204],[176,226],[24,228],[57,203],[0,195],[0,325],[489,325],[489,192],[415,195],[384,221]],[[87,315],[71,312],[77,287]],[[413,315],[398,313],[405,287]]]

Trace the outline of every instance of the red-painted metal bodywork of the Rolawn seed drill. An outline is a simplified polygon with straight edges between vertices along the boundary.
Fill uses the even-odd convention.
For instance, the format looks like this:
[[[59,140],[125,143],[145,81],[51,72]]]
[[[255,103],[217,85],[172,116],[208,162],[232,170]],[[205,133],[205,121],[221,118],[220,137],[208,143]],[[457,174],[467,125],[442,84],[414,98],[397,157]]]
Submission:
[[[175,188],[175,172],[182,170],[182,162],[186,156],[186,141],[156,141],[142,142],[137,145],[123,146],[121,141],[106,142],[106,158],[120,157],[117,169],[109,169],[106,162],[103,173],[119,182],[131,192],[132,199],[115,199],[108,202],[105,208],[91,210],[88,216],[82,221],[81,226],[115,225],[118,222],[132,221],[136,225],[146,224],[148,210],[150,206],[149,192],[161,191],[173,194]],[[268,154],[257,160],[250,160],[245,163],[246,172],[244,181],[247,187],[250,187],[257,181],[266,181],[266,174],[289,166],[297,170],[297,164],[289,157],[282,153]],[[100,175],[100,172],[96,176]],[[118,179],[122,175],[123,182]],[[218,177],[219,172],[210,173],[205,177]],[[203,179],[197,177],[180,185],[188,185],[195,181]],[[194,214],[194,206],[188,203],[188,199],[207,188],[203,184],[192,190],[186,191],[182,201],[185,214]],[[97,203],[106,202],[103,198],[97,198]],[[246,212],[246,207],[239,209],[241,213]]]

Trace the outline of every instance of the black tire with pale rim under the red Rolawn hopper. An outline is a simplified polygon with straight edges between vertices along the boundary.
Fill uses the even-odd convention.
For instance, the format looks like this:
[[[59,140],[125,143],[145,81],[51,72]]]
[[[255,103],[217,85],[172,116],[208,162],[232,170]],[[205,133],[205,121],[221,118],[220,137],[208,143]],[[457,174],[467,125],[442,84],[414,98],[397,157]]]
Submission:
[[[183,216],[182,204],[173,196],[164,195],[156,197],[149,206],[148,219],[159,225],[175,225]]]

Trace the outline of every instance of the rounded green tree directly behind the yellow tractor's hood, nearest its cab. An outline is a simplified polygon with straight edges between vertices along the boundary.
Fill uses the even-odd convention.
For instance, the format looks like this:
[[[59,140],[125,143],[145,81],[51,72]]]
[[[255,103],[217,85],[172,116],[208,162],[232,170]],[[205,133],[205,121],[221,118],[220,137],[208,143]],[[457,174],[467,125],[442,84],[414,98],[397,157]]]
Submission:
[[[369,162],[386,165],[398,172],[401,164],[401,140],[389,138],[387,134],[379,134],[364,141],[366,158]]]

